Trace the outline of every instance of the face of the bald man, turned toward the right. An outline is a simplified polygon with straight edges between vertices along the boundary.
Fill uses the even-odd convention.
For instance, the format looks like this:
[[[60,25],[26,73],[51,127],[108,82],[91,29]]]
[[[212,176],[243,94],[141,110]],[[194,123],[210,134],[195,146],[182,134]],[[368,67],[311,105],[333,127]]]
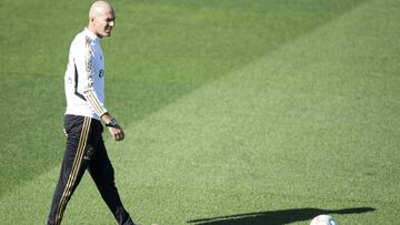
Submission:
[[[104,13],[93,19],[96,34],[100,38],[111,35],[111,30],[116,24],[116,16],[112,9],[107,9]]]

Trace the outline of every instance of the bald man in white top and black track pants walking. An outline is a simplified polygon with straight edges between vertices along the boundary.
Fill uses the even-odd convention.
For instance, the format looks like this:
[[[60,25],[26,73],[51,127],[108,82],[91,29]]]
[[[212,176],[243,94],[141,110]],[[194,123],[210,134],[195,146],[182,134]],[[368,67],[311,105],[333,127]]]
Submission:
[[[124,139],[121,126],[103,104],[104,57],[100,40],[111,34],[114,20],[113,8],[106,1],[96,1],[89,11],[88,28],[74,38],[70,47],[64,76],[64,132],[68,137],[48,219],[51,225],[61,223],[67,204],[86,168],[118,224],[134,224],[122,206],[101,135],[102,121],[116,141]]]

